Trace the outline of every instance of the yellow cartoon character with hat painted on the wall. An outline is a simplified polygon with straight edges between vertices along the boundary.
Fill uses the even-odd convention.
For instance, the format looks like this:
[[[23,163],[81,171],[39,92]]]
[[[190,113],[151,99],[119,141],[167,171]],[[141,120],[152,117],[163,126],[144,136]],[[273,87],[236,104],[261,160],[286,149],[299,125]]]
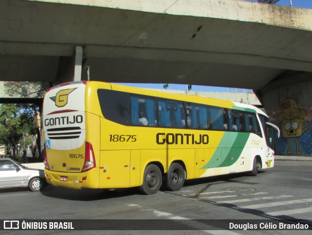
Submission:
[[[278,114],[278,121],[281,123],[282,133],[288,138],[288,154],[291,154],[291,138],[296,142],[297,154],[300,155],[299,144],[297,138],[300,137],[305,130],[309,129],[309,123],[304,120],[307,116],[305,109],[300,109],[296,105],[294,99],[286,99],[282,104],[283,112]],[[306,127],[304,128],[304,124]]]

